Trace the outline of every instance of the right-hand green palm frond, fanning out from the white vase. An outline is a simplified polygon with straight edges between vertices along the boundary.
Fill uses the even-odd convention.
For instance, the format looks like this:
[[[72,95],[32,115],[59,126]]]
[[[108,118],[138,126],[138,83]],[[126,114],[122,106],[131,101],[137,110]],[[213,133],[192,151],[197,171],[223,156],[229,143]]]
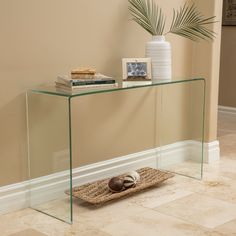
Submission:
[[[215,16],[204,17],[195,4],[188,6],[186,3],[179,11],[173,10],[173,19],[168,33],[177,34],[193,41],[200,39],[213,40],[215,33],[206,25],[215,23]]]

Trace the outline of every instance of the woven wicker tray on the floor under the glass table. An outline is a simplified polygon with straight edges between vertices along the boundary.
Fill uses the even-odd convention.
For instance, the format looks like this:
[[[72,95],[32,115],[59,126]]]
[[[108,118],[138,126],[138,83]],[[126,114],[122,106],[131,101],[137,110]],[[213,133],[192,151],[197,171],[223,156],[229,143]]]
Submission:
[[[109,191],[107,186],[109,179],[104,179],[79,187],[74,187],[72,189],[72,196],[80,198],[91,204],[103,204],[105,202],[139,192],[174,176],[171,173],[149,167],[139,169],[137,172],[140,174],[140,181],[134,188],[128,188],[119,193],[112,193]],[[66,191],[66,193],[69,194],[69,191]]]

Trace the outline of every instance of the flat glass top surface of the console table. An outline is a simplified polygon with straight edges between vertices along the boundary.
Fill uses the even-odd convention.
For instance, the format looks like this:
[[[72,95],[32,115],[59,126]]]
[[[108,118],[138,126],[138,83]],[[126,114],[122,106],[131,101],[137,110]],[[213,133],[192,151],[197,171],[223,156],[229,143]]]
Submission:
[[[97,94],[97,93],[107,93],[107,92],[114,92],[114,91],[122,91],[122,90],[128,90],[128,89],[138,89],[138,88],[145,88],[145,87],[156,87],[156,86],[162,86],[166,84],[176,84],[176,83],[187,83],[187,82],[193,82],[193,81],[199,81],[202,80],[205,82],[204,78],[191,78],[191,79],[178,79],[178,80],[168,80],[168,81],[160,81],[157,83],[150,82],[150,84],[140,84],[136,82],[129,82],[124,83],[122,82],[117,87],[102,87],[102,88],[91,88],[91,89],[81,89],[76,91],[65,91],[62,89],[58,89],[53,84],[45,84],[41,85],[35,88],[31,88],[28,91],[34,92],[34,93],[43,93],[43,94],[49,94],[49,95],[56,95],[56,96],[63,96],[63,97],[77,97],[77,96],[84,96],[84,95],[90,95],[90,94]]]

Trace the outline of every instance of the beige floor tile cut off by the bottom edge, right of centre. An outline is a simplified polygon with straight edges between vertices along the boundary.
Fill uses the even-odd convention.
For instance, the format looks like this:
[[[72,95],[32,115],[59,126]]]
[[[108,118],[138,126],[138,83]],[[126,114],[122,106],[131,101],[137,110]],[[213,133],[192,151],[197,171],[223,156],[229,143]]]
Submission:
[[[102,229],[112,236],[202,236],[206,229],[180,219],[147,210]]]

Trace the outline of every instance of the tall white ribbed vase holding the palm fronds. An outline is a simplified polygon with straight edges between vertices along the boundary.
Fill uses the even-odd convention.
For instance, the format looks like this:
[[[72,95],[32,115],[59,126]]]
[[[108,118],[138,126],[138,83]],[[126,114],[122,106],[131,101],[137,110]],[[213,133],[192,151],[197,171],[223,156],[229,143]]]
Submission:
[[[165,36],[153,36],[146,43],[146,57],[152,59],[152,81],[171,80],[171,45]]]

